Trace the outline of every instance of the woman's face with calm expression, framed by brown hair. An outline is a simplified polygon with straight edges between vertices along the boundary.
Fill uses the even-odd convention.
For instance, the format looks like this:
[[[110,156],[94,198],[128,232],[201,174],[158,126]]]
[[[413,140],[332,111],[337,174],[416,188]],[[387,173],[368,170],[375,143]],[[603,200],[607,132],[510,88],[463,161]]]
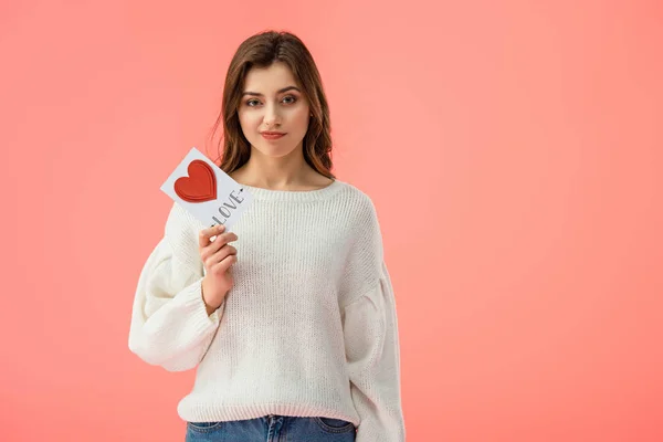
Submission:
[[[251,145],[263,155],[282,157],[302,147],[308,129],[308,99],[290,67],[275,62],[270,67],[252,67],[246,74],[238,108],[240,126]],[[285,133],[276,139],[263,131]]]

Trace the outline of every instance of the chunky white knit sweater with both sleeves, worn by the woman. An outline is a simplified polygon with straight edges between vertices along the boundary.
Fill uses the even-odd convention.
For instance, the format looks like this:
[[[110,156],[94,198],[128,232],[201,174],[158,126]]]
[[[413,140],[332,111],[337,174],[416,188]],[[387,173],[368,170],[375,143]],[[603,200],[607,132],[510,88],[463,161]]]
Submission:
[[[169,371],[197,368],[186,421],[328,417],[357,442],[400,442],[396,303],[375,206],[339,180],[312,191],[243,186],[234,286],[208,316],[198,233],[173,203],[138,280],[129,349]]]

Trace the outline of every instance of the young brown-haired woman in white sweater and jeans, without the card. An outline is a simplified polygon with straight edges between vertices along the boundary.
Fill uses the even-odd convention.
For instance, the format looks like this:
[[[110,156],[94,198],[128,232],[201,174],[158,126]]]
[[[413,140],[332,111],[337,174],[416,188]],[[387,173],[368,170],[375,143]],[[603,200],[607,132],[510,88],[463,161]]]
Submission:
[[[197,368],[178,404],[189,442],[403,441],[380,225],[330,172],[327,99],[298,38],[240,45],[220,123],[220,168],[254,200],[233,232],[172,206],[139,276],[130,350]]]

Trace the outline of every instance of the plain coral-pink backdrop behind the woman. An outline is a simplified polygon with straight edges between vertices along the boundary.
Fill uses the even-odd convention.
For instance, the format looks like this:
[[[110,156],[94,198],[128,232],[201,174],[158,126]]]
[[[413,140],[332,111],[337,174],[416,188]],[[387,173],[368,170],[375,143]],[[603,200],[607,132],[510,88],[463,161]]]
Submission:
[[[3,2],[0,439],[183,440],[193,371],[129,352],[134,291],[275,28],[378,209],[408,440],[663,440],[663,7],[628,3]]]

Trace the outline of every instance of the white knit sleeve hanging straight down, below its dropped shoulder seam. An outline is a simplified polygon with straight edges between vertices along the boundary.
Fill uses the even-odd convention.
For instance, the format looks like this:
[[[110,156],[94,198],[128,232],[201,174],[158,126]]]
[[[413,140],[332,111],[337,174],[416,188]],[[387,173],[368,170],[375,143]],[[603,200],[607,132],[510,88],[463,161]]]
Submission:
[[[402,442],[398,319],[385,262],[377,285],[343,314],[350,392],[361,418],[357,442]]]

